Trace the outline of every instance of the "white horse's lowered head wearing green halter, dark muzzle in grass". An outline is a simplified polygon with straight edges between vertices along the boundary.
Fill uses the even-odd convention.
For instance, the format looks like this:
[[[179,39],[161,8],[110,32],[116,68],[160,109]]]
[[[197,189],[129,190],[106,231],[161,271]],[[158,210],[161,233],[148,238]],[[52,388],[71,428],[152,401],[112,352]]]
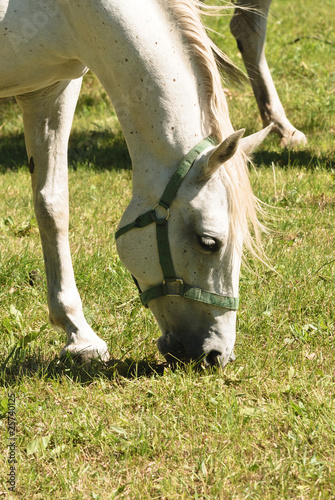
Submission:
[[[245,139],[244,130],[234,132],[216,147],[202,141],[153,208],[121,222],[116,234],[120,258],[162,332],[158,349],[172,364],[224,366],[233,357],[247,221],[233,223],[227,169],[232,163],[234,172],[235,157],[249,154],[270,128]]]

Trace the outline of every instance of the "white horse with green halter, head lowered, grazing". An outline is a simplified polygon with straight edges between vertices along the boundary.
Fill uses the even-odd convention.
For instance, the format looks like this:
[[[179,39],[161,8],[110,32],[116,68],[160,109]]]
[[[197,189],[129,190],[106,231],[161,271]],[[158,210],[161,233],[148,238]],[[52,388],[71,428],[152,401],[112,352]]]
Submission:
[[[242,241],[252,246],[250,221],[258,230],[245,153],[268,130],[234,132],[196,2],[0,0],[0,37],[0,97],[15,95],[23,113],[50,320],[68,338],[61,354],[109,357],[83,315],[68,241],[68,137],[90,68],[133,163],[117,247],[159,323],[159,350],[225,365]]]

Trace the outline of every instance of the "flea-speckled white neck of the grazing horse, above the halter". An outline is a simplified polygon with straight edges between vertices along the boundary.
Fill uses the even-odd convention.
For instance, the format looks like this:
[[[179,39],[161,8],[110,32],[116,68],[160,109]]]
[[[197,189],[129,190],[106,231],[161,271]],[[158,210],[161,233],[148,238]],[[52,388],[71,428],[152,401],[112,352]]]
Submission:
[[[111,97],[133,163],[133,194],[154,197],[210,130],[200,72],[164,2],[81,4],[89,37],[82,58]],[[78,13],[80,17],[80,14]],[[94,19],[96,27],[89,28]]]

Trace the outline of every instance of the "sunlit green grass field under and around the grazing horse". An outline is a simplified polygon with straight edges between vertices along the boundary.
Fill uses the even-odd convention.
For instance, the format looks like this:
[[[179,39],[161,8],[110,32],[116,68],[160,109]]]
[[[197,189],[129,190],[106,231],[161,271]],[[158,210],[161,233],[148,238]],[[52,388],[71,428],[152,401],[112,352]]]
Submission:
[[[209,23],[241,66],[229,18]],[[59,361],[65,339],[47,322],[22,119],[0,101],[0,497],[335,498],[334,26],[333,0],[274,1],[268,61],[309,142],[288,151],[270,137],[255,154],[255,193],[273,207],[272,268],[247,259],[242,269],[237,359],[223,372],[172,372],[157,352],[158,327],[113,237],[130,160],[92,75],[70,141],[71,248],[86,317],[121,361]],[[230,89],[229,106],[236,129],[261,128],[250,88]]]

